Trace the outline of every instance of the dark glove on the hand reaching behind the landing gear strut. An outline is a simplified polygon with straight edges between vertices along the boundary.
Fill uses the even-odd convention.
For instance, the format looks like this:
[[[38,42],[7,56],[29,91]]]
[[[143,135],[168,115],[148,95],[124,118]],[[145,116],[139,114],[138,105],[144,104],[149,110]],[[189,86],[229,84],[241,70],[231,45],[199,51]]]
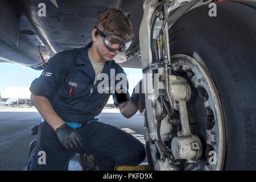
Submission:
[[[145,94],[142,93],[142,80],[138,84],[139,84],[139,93],[135,93],[135,88],[134,88],[133,94],[131,95],[130,100],[133,102],[133,104],[137,105],[139,111],[141,111],[142,113],[142,111],[145,108]]]

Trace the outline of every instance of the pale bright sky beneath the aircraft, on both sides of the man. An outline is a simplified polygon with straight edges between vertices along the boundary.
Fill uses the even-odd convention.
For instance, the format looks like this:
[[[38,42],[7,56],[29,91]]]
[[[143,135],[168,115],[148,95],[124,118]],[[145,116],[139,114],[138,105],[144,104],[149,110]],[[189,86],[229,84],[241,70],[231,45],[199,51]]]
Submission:
[[[142,70],[123,68],[129,81],[129,92],[142,79]],[[0,63],[0,93],[7,86],[21,86],[29,88],[31,82],[41,75],[42,71],[36,71],[30,67],[14,63]]]

